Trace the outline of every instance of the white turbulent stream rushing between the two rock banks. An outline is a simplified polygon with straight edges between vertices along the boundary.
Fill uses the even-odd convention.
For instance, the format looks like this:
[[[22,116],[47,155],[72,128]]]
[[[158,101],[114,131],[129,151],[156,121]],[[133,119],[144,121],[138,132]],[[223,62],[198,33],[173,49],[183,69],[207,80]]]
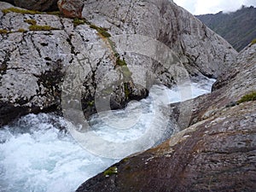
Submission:
[[[155,103],[159,103],[155,102],[155,98],[163,104],[180,102],[210,92],[213,82],[212,79],[205,79],[192,83],[192,95],[185,97],[180,96],[180,87],[169,90],[154,85],[147,99],[131,102],[124,110],[94,115],[90,125],[97,135],[109,141],[121,143],[139,138],[154,116]],[[139,108],[141,115],[134,121],[138,106],[143,108]],[[128,118],[125,116],[127,113],[131,114]],[[109,121],[109,116],[114,119]],[[66,123],[65,119],[54,114],[28,114],[0,129],[1,192],[74,191],[79,184],[118,161],[84,150],[65,131]],[[131,129],[119,132],[112,129],[113,126],[126,124],[133,125]],[[169,129],[168,134],[172,131]]]

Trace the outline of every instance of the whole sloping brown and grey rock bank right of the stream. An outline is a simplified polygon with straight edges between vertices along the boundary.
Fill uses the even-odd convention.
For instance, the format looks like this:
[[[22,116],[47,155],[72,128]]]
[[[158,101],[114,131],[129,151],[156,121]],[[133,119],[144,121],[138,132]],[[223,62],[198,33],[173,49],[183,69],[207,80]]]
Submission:
[[[120,161],[113,165],[116,173],[99,173],[77,191],[253,192],[256,101],[225,105],[256,90],[255,49],[251,45],[238,56],[230,69],[237,69],[236,75],[224,75],[212,94],[195,99],[197,123],[157,148]]]

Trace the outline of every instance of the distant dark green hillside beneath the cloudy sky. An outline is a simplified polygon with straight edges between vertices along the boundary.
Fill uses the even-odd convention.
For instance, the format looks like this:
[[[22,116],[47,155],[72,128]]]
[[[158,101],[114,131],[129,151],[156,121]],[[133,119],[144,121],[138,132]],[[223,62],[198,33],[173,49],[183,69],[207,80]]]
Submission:
[[[217,32],[240,51],[256,38],[256,8],[242,7],[236,12],[196,15],[212,31]]]

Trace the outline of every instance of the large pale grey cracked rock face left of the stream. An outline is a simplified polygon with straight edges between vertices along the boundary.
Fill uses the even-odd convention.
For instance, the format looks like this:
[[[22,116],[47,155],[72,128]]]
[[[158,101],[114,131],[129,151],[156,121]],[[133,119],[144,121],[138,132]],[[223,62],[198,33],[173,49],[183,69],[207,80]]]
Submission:
[[[11,5],[0,2],[0,7]],[[61,84],[73,81],[71,71],[78,64],[85,76],[79,87],[82,108],[89,116],[98,110],[96,93],[107,98],[102,103],[109,102],[109,108],[122,108],[147,96],[153,83],[171,87],[187,72],[218,77],[236,56],[223,38],[167,0],[85,1],[83,17],[0,12],[0,28],[6,29],[0,34],[0,125],[20,114],[61,111]],[[138,41],[156,39],[183,63],[169,65],[154,56],[122,51],[117,35],[124,39],[132,34]],[[127,39],[133,44],[134,39]]]

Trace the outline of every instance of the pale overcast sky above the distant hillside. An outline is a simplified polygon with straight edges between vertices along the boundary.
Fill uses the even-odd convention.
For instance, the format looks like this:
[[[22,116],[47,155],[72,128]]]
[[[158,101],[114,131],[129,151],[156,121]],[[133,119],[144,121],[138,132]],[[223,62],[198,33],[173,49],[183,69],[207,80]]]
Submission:
[[[193,15],[216,14],[241,8],[241,5],[256,7],[256,0],[173,0]]]

